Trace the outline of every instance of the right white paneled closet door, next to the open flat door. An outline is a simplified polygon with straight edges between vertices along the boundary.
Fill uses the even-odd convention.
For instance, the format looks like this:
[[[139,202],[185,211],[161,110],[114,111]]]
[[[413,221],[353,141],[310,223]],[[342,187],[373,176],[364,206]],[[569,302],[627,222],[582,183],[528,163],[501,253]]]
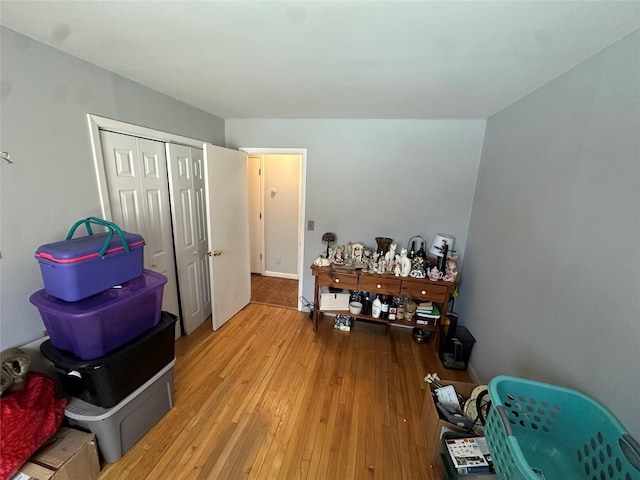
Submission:
[[[167,144],[173,230],[182,316],[187,335],[205,321],[203,272],[200,261],[196,163],[191,148]],[[206,252],[206,247],[205,247]],[[208,284],[208,283],[207,283]]]

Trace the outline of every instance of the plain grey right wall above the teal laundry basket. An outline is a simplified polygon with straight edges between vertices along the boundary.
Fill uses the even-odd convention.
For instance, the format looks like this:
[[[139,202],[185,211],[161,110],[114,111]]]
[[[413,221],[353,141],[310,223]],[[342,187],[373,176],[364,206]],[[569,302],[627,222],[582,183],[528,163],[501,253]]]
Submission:
[[[488,120],[459,299],[483,381],[576,388],[636,439],[638,59],[640,32]]]

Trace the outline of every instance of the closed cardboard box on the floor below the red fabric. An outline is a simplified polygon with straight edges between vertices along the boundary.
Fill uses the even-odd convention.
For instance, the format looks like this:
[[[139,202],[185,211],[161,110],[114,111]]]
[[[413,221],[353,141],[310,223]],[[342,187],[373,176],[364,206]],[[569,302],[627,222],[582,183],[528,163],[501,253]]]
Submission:
[[[95,436],[62,427],[11,480],[95,480],[99,474]]]

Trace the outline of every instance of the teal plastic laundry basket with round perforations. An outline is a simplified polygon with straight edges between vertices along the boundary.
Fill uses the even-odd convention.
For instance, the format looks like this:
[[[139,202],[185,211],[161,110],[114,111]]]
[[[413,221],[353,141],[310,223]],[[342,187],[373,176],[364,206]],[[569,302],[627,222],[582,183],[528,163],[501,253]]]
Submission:
[[[489,395],[485,436],[501,480],[640,479],[640,445],[595,400],[509,376]]]

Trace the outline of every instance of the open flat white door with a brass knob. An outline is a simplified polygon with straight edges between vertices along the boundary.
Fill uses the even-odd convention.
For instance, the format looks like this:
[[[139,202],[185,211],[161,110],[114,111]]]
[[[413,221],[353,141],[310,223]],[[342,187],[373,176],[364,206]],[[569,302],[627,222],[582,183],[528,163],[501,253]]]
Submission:
[[[217,330],[251,300],[247,156],[205,144],[204,159],[212,324]]]

